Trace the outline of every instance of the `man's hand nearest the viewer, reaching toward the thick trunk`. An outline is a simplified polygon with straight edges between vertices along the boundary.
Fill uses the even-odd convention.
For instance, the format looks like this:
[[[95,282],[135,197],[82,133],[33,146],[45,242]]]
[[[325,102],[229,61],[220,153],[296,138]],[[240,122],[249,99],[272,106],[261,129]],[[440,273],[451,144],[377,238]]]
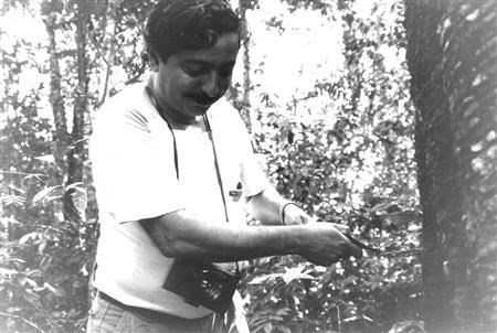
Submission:
[[[313,223],[303,227],[307,240],[299,255],[306,260],[319,266],[330,266],[340,259],[362,257],[362,249],[353,245],[334,224]]]

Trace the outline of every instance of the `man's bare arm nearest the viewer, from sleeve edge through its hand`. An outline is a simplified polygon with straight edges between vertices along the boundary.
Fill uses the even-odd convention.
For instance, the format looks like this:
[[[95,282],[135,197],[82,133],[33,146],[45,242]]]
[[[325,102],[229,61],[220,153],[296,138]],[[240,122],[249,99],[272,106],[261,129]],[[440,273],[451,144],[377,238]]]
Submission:
[[[331,223],[236,226],[210,223],[178,211],[141,221],[141,225],[160,251],[175,258],[221,262],[299,255],[316,265],[329,266],[340,258],[362,256],[362,250]]]

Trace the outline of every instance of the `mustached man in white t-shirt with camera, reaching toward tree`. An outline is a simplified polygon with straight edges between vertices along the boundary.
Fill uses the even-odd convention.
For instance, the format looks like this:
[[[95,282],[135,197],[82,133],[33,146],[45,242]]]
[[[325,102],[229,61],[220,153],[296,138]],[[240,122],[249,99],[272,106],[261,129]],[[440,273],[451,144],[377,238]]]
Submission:
[[[145,41],[149,77],[106,103],[91,141],[101,238],[88,332],[221,332],[224,304],[187,294],[212,287],[188,282],[199,275],[191,262],[237,272],[233,262],[263,256],[359,258],[337,226],[314,223],[267,183],[221,99],[240,47],[228,2],[161,1]],[[246,226],[245,208],[263,225]]]

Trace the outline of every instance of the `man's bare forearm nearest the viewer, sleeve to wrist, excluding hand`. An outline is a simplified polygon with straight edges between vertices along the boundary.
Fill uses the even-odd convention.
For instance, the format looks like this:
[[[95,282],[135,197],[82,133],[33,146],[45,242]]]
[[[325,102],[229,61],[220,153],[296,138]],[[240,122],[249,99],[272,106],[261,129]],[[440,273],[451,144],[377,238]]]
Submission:
[[[207,223],[178,211],[141,222],[167,257],[209,261],[235,261],[257,257],[298,254],[305,230],[295,227],[236,226]]]

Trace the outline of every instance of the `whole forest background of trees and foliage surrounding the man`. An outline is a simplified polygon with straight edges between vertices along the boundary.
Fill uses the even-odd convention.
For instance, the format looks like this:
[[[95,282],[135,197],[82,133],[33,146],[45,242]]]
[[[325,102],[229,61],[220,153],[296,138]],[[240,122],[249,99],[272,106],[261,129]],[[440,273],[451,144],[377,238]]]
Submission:
[[[1,332],[84,331],[87,139],[146,72],[152,3],[1,2]],[[495,332],[497,4],[232,3],[247,24],[229,99],[261,165],[317,219],[383,249],[330,268],[251,261],[251,331]]]

